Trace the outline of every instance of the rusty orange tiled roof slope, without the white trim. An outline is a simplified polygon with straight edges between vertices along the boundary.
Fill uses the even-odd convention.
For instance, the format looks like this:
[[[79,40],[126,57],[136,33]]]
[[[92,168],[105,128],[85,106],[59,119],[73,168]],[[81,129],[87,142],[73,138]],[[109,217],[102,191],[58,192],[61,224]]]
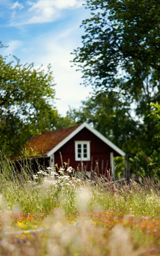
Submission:
[[[50,150],[52,150],[52,148],[57,146],[69,134],[75,131],[78,126],[80,126],[80,124],[61,130],[44,132],[40,135],[36,135],[28,140],[27,148],[33,148],[33,150],[36,151],[37,154],[42,154],[43,152],[43,154],[46,155]]]

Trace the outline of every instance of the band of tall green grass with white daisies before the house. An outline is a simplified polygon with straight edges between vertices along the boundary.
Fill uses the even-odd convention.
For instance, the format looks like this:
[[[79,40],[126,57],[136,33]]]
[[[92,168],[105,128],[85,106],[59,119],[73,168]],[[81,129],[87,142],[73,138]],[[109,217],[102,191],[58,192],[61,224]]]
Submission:
[[[26,161],[25,161],[26,163]],[[107,183],[96,177],[93,180],[75,179],[73,169],[69,175],[64,168],[48,168],[34,174],[31,164],[23,164],[18,172],[14,164],[1,154],[0,193],[8,209],[20,208],[24,213],[49,213],[61,208],[66,214],[78,213],[79,195],[87,202],[88,211],[114,211],[115,214],[132,214],[156,218],[160,216],[158,184],[145,179],[141,183]]]

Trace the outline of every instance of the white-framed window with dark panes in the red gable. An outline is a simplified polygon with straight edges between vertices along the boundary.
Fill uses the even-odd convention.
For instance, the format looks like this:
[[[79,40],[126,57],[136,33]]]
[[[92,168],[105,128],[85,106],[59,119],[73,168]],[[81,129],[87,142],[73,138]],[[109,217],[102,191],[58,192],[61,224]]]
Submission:
[[[76,140],[75,141],[75,160],[90,161],[90,141]]]

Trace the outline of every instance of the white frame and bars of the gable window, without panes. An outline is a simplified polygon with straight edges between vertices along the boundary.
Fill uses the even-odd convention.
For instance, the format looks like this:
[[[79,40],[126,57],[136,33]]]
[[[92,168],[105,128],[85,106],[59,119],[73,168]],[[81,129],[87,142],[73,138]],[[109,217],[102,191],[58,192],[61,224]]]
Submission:
[[[75,161],[90,161],[91,160],[91,154],[90,154],[90,140],[75,140]],[[81,156],[78,157],[78,144],[81,144],[81,150],[84,150],[84,144],[87,145],[87,157]],[[83,152],[84,153],[84,152]]]

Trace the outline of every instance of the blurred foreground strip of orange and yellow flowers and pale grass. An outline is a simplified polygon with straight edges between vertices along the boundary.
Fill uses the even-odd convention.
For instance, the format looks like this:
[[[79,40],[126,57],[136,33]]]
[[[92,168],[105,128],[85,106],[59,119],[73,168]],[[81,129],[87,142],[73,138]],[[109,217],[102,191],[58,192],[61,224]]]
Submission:
[[[158,255],[158,219],[123,217],[115,216],[111,211],[93,211],[81,214],[73,220],[70,217],[66,218],[59,209],[47,217],[43,213],[32,212],[26,215],[21,212],[13,213],[11,216],[5,214],[5,217],[8,222],[1,223],[1,226],[9,229],[10,233],[14,230],[21,233],[7,236],[3,234],[0,242],[2,255],[13,255],[13,246],[17,256]],[[28,229],[30,232],[27,232]],[[4,246],[4,242],[8,246]],[[56,253],[57,251],[60,253]]]

